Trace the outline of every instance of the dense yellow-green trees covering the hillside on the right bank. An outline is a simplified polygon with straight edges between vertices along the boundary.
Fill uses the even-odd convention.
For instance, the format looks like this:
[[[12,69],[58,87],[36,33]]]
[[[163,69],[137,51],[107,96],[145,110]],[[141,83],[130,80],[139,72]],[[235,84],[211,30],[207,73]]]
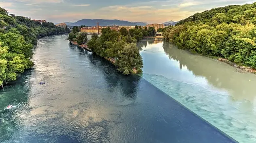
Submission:
[[[181,49],[256,68],[256,2],[196,13],[168,27],[164,38]]]

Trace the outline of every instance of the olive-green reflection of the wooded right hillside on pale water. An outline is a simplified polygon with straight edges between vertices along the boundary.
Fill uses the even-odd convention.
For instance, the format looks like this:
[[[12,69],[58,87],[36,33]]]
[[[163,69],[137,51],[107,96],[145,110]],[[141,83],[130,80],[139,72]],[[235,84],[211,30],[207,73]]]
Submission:
[[[249,79],[255,78],[255,75],[211,58],[179,50],[168,42],[163,43],[163,49],[171,60],[179,62],[180,69],[186,66],[193,75],[205,77],[211,85],[230,91],[234,99],[254,100],[256,88],[254,88],[254,84],[249,82]]]

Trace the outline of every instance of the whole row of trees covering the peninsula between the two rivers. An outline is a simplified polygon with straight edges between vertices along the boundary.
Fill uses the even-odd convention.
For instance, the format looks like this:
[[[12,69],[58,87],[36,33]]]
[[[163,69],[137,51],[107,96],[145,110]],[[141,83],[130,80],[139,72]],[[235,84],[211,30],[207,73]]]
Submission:
[[[139,54],[136,44],[143,36],[155,35],[154,27],[135,26],[135,29],[121,28],[119,31],[111,30],[109,27],[101,29],[101,35],[98,37],[95,33],[92,39],[87,43],[87,34],[79,33],[79,27],[74,26],[68,35],[70,41],[76,41],[77,44],[87,43],[88,48],[93,53],[103,57],[115,60],[117,70],[124,75],[130,73],[142,73],[143,61]]]

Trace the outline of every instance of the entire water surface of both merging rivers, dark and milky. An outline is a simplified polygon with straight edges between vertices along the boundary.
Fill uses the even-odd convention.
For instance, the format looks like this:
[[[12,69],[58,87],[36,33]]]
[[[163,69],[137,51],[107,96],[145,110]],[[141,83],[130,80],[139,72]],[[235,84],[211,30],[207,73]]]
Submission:
[[[141,41],[143,74],[124,76],[66,37],[39,39],[34,68],[0,91],[0,142],[256,142],[256,75]]]

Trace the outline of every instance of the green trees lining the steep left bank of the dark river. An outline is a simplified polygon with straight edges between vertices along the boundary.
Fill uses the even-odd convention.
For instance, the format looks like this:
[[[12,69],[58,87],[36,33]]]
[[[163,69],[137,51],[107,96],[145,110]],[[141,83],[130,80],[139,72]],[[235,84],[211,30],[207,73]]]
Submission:
[[[9,16],[0,8],[0,86],[16,80],[25,69],[33,66],[33,45],[44,36],[66,33],[53,23],[32,21],[25,17]]]

